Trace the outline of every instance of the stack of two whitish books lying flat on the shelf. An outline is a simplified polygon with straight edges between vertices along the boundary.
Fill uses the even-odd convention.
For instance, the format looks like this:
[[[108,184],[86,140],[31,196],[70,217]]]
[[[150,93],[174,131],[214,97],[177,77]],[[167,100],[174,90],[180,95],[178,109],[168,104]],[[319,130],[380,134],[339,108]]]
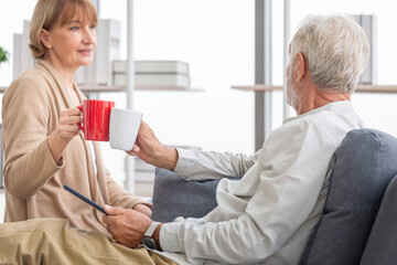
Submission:
[[[114,61],[114,85],[127,84],[126,61]],[[190,87],[189,64],[180,61],[135,61],[136,86],[142,89],[152,87]]]

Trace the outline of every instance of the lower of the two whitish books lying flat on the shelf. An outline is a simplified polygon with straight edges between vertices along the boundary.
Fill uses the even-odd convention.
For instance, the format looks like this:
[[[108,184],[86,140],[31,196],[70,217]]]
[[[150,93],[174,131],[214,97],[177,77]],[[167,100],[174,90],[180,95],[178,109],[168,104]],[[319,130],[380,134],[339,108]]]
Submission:
[[[115,73],[116,86],[127,85],[127,75]],[[183,74],[136,74],[136,86],[178,86],[190,87],[189,75]]]

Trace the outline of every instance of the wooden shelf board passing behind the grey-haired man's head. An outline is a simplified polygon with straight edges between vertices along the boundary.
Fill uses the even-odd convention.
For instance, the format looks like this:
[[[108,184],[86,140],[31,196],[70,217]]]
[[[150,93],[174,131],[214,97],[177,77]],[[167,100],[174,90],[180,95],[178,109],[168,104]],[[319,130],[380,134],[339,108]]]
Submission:
[[[234,89],[239,91],[282,91],[282,86],[272,85],[253,85],[253,86],[232,86]],[[357,85],[356,92],[360,93],[397,93],[397,85]]]

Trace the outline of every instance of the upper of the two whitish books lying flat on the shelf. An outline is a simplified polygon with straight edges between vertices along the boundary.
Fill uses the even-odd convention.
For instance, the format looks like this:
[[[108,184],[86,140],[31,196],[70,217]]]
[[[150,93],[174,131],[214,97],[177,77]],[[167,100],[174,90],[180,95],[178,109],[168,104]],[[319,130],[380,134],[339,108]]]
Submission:
[[[126,73],[126,61],[114,61],[114,73]],[[181,61],[135,61],[136,74],[184,74],[189,75],[189,64]]]

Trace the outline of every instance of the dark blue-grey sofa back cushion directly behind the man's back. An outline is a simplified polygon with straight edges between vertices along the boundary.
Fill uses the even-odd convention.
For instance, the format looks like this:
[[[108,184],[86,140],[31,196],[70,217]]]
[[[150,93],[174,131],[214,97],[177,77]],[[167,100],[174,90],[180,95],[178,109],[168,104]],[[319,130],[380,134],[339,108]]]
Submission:
[[[323,216],[300,264],[354,265],[390,179],[397,173],[397,139],[377,130],[347,134],[335,152]]]

